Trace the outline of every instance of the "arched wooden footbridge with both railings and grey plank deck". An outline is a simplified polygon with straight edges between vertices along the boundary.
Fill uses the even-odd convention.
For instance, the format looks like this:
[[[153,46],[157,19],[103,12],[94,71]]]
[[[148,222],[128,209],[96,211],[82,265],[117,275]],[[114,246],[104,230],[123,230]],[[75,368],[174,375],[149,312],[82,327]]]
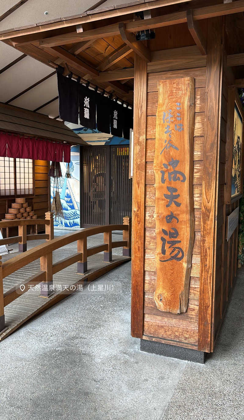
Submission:
[[[0,245],[18,242],[23,252],[0,256],[0,341],[81,286],[131,259],[129,217],[123,218],[123,225],[96,226],[55,239],[52,213],[45,217],[35,220],[37,225],[45,224],[46,233],[40,235],[26,234],[33,220],[0,222],[0,228],[18,226],[18,236],[1,239]],[[123,231],[123,240],[112,242],[112,231]],[[104,243],[87,248],[87,238],[101,233]],[[46,243],[26,251],[26,241],[37,239],[46,239]],[[63,249],[74,241],[75,254]],[[112,249],[118,247],[123,247],[123,256],[112,257]]]

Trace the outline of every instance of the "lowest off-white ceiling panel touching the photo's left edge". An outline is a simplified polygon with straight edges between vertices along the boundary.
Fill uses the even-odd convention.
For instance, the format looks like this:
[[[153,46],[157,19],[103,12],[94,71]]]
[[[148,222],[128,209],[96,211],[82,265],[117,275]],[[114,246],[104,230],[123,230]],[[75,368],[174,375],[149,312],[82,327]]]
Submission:
[[[34,58],[23,58],[0,74],[0,102],[6,102],[51,72],[49,66]]]

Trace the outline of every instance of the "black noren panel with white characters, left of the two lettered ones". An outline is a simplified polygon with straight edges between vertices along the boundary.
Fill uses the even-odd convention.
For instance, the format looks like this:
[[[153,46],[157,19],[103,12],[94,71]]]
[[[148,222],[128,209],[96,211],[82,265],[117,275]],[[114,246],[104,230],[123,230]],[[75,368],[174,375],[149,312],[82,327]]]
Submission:
[[[83,127],[96,128],[96,93],[83,84],[79,84],[79,113]]]

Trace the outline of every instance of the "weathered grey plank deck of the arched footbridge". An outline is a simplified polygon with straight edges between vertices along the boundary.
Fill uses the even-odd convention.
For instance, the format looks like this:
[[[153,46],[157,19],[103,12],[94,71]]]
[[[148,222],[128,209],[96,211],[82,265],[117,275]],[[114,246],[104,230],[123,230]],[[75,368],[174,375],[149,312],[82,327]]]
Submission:
[[[73,251],[66,251],[65,249],[58,249],[52,253],[53,263],[62,260],[67,256],[71,256]],[[18,255],[18,252],[11,253],[8,255],[3,255],[2,260],[7,261],[10,258]],[[122,257],[120,255],[113,255],[112,262],[103,261],[103,253],[93,255],[92,257],[87,258],[87,270],[88,272],[84,275],[77,274],[77,264],[70,265],[69,267],[63,269],[59,273],[53,275],[53,284],[56,285],[77,285],[78,283],[84,283],[84,280],[93,281],[96,278],[102,276],[118,265],[123,264],[123,262],[129,261],[131,258]],[[37,273],[40,270],[40,260],[36,260],[26,265],[25,267],[17,270],[15,273],[4,278],[3,280],[3,290],[4,293],[10,290],[13,286],[21,284],[21,279],[26,280],[29,276]],[[86,284],[86,282],[84,283]],[[26,293],[22,294],[16,300],[8,304],[5,309],[5,325],[6,328],[0,333],[0,341],[9,336],[13,331],[19,328],[27,320],[33,318],[35,315],[44,311],[48,307],[54,305],[60,300],[67,297],[69,294],[74,291],[56,291],[48,299],[39,297],[38,290],[29,290]]]

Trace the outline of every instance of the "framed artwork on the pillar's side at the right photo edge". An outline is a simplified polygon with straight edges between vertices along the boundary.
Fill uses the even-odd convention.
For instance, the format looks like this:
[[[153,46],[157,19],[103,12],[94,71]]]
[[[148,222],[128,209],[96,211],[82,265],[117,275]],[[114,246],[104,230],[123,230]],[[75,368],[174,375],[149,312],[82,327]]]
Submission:
[[[239,98],[238,98],[239,99]],[[234,109],[233,155],[231,168],[231,201],[243,193],[243,110],[236,98]]]

